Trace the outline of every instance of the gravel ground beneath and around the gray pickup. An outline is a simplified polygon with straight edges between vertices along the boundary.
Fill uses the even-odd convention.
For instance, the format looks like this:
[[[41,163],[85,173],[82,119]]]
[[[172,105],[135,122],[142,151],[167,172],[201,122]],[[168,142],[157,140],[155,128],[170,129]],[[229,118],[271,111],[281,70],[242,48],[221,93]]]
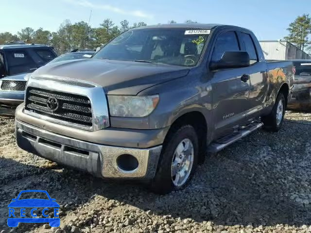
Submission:
[[[158,196],[20,150],[14,119],[0,117],[0,233],[311,233],[310,138],[311,114],[287,112],[278,133],[252,133],[207,157],[187,189]],[[59,228],[6,226],[7,205],[24,189],[56,199]]]

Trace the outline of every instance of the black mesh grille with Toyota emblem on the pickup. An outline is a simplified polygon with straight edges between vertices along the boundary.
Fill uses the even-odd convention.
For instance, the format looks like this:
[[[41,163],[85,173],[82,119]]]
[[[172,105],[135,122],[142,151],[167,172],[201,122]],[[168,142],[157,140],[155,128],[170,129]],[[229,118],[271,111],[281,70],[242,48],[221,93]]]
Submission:
[[[92,126],[92,108],[85,96],[29,87],[25,110],[83,126]]]

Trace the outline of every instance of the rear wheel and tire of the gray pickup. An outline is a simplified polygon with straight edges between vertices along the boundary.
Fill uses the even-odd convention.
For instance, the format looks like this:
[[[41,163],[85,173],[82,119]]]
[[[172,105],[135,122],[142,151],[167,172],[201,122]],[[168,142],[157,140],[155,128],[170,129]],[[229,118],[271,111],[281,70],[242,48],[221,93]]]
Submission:
[[[280,111],[280,105],[282,105],[282,111]],[[263,127],[267,131],[277,132],[282,127],[283,119],[286,110],[286,101],[283,93],[279,93],[276,98],[276,102],[273,106],[272,112],[262,117]],[[280,116],[280,114],[282,114]]]

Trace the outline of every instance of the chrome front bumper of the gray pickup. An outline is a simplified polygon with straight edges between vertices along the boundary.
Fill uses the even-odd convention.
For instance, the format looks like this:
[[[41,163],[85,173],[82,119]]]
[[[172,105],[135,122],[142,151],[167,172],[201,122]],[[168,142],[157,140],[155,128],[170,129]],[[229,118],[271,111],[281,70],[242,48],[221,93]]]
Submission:
[[[16,139],[17,145],[23,150],[102,178],[152,179],[162,149],[162,146],[138,149],[90,143],[19,120],[16,120]],[[117,158],[122,154],[134,156],[138,167],[130,171],[121,169]]]

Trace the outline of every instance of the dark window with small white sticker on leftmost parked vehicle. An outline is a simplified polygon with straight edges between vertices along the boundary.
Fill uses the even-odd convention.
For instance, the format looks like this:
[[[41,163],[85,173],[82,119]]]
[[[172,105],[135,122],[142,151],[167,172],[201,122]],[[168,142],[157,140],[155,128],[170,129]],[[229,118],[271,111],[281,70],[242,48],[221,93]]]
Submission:
[[[5,51],[9,75],[33,72],[36,68],[34,60],[26,50]]]

